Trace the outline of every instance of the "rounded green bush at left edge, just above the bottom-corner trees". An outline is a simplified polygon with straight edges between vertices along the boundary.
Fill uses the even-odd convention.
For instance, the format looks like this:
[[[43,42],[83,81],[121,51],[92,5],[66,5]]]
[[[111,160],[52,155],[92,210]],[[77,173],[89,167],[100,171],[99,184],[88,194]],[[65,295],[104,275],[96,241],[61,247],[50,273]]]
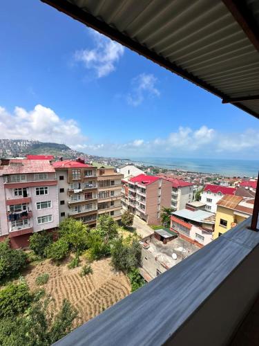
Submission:
[[[23,313],[33,300],[26,282],[8,284],[0,291],[0,318],[12,318]]]

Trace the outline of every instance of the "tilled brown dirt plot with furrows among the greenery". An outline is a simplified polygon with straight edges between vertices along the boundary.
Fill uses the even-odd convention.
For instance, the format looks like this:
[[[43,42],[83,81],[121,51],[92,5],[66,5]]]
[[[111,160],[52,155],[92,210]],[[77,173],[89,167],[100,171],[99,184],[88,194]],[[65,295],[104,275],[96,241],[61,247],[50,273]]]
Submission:
[[[81,325],[131,293],[126,275],[113,271],[110,263],[110,259],[95,261],[91,264],[93,274],[81,277],[81,266],[68,269],[67,263],[56,266],[45,260],[30,266],[23,276],[30,289],[35,289],[39,287],[35,284],[36,277],[48,273],[50,278],[41,287],[55,299],[58,309],[64,298],[70,300],[79,311],[77,325]]]

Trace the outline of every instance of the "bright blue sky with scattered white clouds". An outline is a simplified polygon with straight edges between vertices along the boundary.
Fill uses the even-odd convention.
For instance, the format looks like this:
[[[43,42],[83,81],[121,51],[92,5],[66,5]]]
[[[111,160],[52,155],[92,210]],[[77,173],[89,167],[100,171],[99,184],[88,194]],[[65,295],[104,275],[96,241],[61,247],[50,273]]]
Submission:
[[[123,158],[259,158],[259,121],[41,1],[0,12],[0,138]]]

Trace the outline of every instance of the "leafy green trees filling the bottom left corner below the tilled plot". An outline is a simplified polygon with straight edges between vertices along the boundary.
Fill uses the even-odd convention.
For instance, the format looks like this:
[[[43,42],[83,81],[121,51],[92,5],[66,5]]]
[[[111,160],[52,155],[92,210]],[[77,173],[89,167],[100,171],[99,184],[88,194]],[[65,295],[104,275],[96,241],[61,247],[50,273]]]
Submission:
[[[0,322],[0,345],[48,346],[73,330],[77,311],[64,300],[55,316],[50,300],[36,302],[21,316]]]

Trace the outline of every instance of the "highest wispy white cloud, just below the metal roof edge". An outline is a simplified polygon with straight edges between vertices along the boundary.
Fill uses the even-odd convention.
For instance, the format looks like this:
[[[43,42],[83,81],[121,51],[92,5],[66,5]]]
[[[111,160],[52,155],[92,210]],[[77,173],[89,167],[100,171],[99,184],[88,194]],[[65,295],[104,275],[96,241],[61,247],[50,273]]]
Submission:
[[[90,30],[95,48],[76,51],[74,59],[82,62],[86,69],[93,70],[97,78],[102,78],[115,71],[115,64],[124,54],[124,46],[108,39],[104,35]]]

